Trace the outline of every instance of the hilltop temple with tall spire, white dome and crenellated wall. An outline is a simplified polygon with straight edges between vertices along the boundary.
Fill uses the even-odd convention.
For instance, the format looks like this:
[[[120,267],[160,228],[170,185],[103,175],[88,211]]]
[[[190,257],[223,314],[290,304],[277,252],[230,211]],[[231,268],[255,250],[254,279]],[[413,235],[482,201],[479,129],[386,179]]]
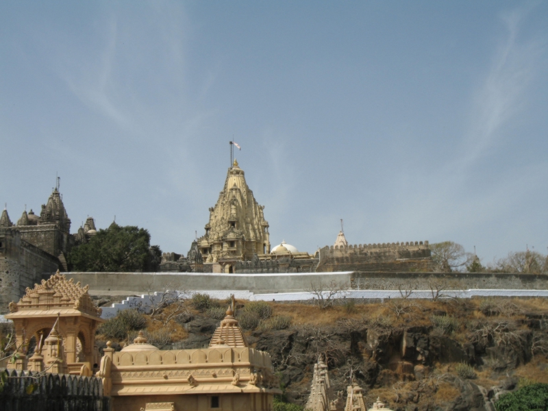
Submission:
[[[428,242],[351,245],[341,230],[332,246],[313,255],[282,241],[272,247],[269,223],[247,186],[238,162],[227,171],[225,185],[205,234],[186,258],[164,253],[160,271],[206,273],[311,273],[317,271],[432,271]]]

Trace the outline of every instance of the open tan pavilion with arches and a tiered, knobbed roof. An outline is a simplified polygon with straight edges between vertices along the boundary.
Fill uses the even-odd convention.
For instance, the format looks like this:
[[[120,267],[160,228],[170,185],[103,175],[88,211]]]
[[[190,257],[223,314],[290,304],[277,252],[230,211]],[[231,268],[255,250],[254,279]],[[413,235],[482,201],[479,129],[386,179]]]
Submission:
[[[59,271],[34,288],[27,288],[18,303],[11,302],[18,358],[8,368],[51,373],[92,375],[99,363],[95,331],[101,308],[95,307],[88,286],[67,280]],[[34,354],[27,358],[27,347],[34,338]],[[46,349],[45,362],[42,350]]]

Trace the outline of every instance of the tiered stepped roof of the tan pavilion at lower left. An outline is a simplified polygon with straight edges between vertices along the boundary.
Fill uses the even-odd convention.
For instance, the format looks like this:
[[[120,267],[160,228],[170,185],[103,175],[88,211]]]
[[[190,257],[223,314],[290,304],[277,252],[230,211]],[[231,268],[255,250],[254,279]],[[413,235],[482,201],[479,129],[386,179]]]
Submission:
[[[42,284],[27,287],[27,292],[18,303],[10,303],[12,314],[8,316],[36,316],[51,311],[51,314],[60,313],[61,316],[84,314],[100,317],[102,310],[93,304],[88,288],[82,287],[79,282],[75,284],[72,278],[67,280],[58,270],[47,281],[42,279]]]

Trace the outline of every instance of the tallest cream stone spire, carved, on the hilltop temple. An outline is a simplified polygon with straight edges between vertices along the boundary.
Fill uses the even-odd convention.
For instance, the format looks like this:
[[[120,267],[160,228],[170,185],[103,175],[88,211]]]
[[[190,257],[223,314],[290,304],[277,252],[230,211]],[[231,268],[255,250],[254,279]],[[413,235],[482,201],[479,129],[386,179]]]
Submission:
[[[244,171],[234,160],[219,199],[210,208],[206,235],[198,239],[204,261],[250,260],[254,253],[269,253],[269,223],[264,219],[263,209],[247,186]]]

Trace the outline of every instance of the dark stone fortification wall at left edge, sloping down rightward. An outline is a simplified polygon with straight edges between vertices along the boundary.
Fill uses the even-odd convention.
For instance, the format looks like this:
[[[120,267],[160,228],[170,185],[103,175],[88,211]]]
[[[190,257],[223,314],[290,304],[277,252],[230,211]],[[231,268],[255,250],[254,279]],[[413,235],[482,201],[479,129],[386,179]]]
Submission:
[[[5,312],[25,288],[55,273],[59,260],[23,240],[16,229],[1,230],[0,243],[0,312]]]

